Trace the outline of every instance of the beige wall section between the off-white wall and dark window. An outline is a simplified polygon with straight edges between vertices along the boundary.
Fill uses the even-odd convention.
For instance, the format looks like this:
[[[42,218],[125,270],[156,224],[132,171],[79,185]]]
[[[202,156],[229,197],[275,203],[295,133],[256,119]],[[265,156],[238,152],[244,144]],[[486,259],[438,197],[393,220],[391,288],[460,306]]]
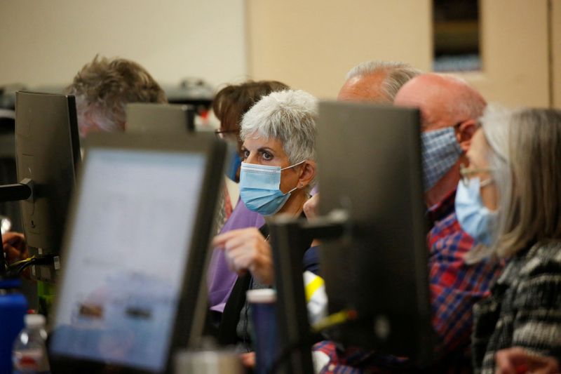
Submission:
[[[370,59],[431,65],[428,0],[247,0],[255,79],[334,98],[346,72]]]

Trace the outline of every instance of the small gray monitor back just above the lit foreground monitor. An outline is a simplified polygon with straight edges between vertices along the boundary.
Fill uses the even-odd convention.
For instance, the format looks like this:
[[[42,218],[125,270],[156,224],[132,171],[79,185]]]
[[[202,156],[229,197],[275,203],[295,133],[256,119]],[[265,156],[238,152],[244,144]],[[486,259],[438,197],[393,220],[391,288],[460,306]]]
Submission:
[[[186,133],[195,130],[195,107],[132,102],[126,105],[127,133]]]

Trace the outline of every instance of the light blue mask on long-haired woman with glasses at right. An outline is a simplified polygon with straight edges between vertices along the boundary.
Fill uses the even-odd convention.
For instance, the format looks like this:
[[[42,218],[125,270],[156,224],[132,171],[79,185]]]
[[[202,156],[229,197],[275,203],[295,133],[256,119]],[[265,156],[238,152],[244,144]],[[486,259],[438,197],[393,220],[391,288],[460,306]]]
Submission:
[[[496,229],[497,214],[483,205],[480,187],[479,178],[471,178],[467,186],[462,181],[458,183],[456,215],[465,232],[485,246],[491,246]]]

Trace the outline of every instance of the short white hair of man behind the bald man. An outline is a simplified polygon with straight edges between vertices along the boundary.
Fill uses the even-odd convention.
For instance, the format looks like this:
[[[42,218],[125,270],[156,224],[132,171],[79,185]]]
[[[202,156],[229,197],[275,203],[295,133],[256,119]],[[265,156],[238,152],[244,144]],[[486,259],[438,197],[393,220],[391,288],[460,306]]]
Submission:
[[[381,84],[381,92],[388,100],[393,101],[401,86],[410,79],[422,74],[421,70],[415,69],[405,62],[398,61],[365,61],[353,67],[346,74],[346,80],[356,76],[367,76],[370,74],[384,73],[384,81]]]

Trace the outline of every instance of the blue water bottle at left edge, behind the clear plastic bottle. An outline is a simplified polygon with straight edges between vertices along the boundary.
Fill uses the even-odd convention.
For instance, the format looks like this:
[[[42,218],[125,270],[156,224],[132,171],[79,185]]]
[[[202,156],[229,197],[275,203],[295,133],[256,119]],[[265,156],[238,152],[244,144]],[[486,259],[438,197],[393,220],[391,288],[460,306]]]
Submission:
[[[12,371],[13,342],[27,312],[27,300],[19,291],[21,284],[20,279],[0,276],[0,373]]]

